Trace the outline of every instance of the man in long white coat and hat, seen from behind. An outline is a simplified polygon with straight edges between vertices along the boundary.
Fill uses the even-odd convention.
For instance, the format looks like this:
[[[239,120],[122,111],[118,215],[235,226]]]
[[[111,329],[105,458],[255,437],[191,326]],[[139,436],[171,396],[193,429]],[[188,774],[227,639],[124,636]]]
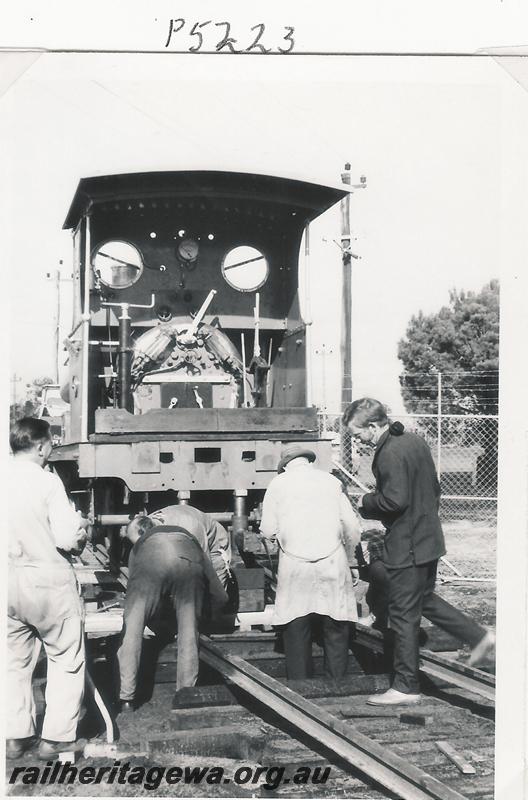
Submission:
[[[347,668],[349,623],[357,608],[349,560],[360,525],[341,484],[313,466],[315,453],[286,445],[264,496],[260,532],[276,539],[279,572],[274,624],[283,625],[288,678],[312,676],[312,623],[321,618],[325,674]]]

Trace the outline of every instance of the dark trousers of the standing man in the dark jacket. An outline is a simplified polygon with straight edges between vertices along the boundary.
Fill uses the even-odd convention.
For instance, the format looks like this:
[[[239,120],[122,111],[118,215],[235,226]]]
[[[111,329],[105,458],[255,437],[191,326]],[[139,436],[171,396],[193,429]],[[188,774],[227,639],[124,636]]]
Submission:
[[[437,565],[437,561],[430,561],[420,566],[386,570],[388,611],[394,633],[393,687],[400,692],[419,691],[418,638],[422,615],[471,647],[486,633],[474,620],[434,593]]]

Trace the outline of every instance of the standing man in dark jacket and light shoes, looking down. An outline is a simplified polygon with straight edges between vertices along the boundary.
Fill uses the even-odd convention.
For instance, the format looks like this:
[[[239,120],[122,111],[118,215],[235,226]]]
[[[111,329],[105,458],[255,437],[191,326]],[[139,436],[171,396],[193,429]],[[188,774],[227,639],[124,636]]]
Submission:
[[[386,528],[382,562],[389,581],[394,679],[387,692],[368,702],[416,703],[421,699],[418,639],[422,614],[468,641],[468,618],[434,594],[438,559],[446,552],[438,516],[440,484],[426,442],[406,432],[400,422],[389,425],[379,401],[356,400],[346,409],[343,421],[354,438],[376,447],[372,462],[376,490],[363,495],[359,510],[365,519],[380,520]],[[477,650],[482,651],[480,656],[492,646],[491,632],[484,632],[473,657]]]

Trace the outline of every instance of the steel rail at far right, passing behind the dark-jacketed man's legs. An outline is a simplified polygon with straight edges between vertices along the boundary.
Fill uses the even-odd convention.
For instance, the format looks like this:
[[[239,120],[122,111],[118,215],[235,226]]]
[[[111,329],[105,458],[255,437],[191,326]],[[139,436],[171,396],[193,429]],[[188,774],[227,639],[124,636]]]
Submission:
[[[363,626],[356,626],[355,642],[378,653],[384,649],[383,635]],[[495,702],[495,676],[480,669],[420,649],[420,672]]]

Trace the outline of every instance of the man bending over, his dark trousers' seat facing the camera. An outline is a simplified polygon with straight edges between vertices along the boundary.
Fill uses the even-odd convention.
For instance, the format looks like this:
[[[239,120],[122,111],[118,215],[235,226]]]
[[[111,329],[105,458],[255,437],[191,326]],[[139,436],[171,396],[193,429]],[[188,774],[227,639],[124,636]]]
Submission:
[[[198,625],[204,604],[222,607],[227,594],[208,554],[184,528],[136,517],[127,528],[129,559],[123,640],[118,651],[120,700],[131,708],[136,694],[143,631],[169,601],[178,625],[176,690],[198,677]]]

